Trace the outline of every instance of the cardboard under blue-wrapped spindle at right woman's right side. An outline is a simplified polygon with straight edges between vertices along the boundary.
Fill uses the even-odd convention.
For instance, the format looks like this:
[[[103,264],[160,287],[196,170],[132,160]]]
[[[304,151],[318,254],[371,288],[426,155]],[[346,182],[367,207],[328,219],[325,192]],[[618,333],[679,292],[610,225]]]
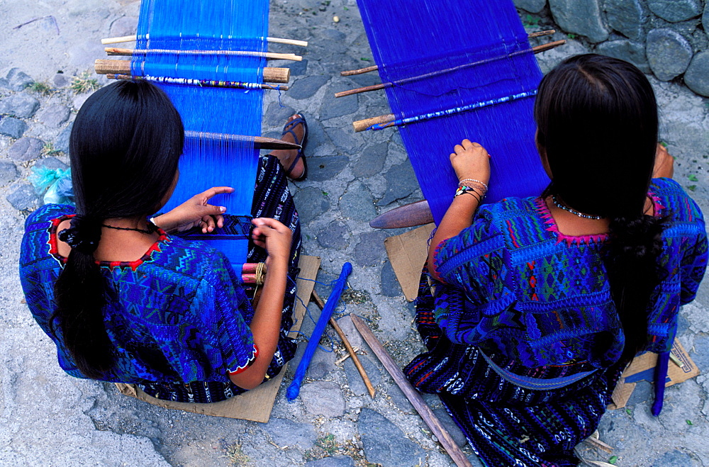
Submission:
[[[677,361],[680,361],[682,366],[679,366],[674,361],[670,359],[667,365],[667,378],[665,380],[665,386],[672,386],[673,384],[681,383],[682,381],[687,381],[689,378],[694,378],[699,374],[699,368],[696,364],[689,358],[689,355],[679,343],[679,340],[674,339],[672,344],[672,355],[674,355]],[[654,370],[657,364],[657,354],[652,352],[645,352],[630,363],[630,365],[625,368],[623,375],[620,376],[618,381],[618,386],[615,386],[613,390],[613,403],[608,405],[609,409],[620,409],[625,407],[632,391],[635,389],[637,381],[654,381]]]

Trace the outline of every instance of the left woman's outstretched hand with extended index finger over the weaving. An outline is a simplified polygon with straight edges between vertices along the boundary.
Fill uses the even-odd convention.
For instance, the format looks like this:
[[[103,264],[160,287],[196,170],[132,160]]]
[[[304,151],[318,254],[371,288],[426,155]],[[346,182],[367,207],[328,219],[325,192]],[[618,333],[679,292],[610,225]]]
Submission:
[[[214,186],[207,191],[192,196],[168,213],[155,218],[155,224],[167,232],[182,232],[192,227],[201,227],[202,233],[212,232],[224,226],[224,206],[212,206],[210,198],[223,193],[233,193],[230,186]]]

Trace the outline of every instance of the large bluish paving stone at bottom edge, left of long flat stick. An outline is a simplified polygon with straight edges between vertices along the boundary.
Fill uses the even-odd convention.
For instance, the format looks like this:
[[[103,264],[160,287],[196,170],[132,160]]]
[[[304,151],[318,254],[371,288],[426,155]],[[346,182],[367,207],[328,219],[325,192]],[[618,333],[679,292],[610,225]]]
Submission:
[[[357,430],[364,443],[367,461],[382,466],[423,466],[426,454],[395,424],[371,409],[362,409]]]

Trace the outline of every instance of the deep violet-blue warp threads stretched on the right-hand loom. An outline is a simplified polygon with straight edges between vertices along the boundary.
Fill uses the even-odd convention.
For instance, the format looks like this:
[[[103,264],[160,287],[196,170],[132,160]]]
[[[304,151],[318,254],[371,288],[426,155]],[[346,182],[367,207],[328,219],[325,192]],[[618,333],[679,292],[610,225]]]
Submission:
[[[512,1],[357,4],[436,223],[457,187],[449,156],[464,138],[479,142],[492,156],[486,201],[538,195],[549,183],[532,119],[542,73]]]

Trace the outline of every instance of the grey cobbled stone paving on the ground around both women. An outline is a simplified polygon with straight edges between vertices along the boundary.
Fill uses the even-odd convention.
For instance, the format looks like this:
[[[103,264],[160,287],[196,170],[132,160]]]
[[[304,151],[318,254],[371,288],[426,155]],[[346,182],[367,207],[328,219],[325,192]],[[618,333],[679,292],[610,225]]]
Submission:
[[[521,3],[541,4],[540,10],[545,4]],[[660,8],[666,2],[650,3]],[[272,47],[302,54],[304,60],[286,64],[292,88],[280,103],[275,92],[264,103],[264,135],[278,137],[285,118],[295,111],[308,118],[309,175],[291,186],[303,221],[303,253],[322,257],[323,283],[333,280],[345,261],[352,262],[352,290],[338,310],[370,318],[381,341],[405,364],[423,346],[413,329],[413,306],[403,298],[383,244],[403,230],[372,230],[368,221],[418,201],[421,192],[395,130],[352,132],[352,120],[389,113],[384,94],[333,97],[336,91],[378,81],[376,74],[339,76],[342,69],[372,64],[357,5],[354,0],[272,0],[271,6],[272,35],[310,42],[307,50]],[[554,27],[548,12],[535,13],[531,23],[527,13],[520,14],[530,31]],[[137,16],[134,0],[0,4],[0,465],[452,465],[348,317],[341,317],[340,325],[352,344],[367,352],[362,363],[376,398],[369,398],[349,359],[336,363],[342,345],[330,330],[322,343],[329,347],[332,342],[335,351],[316,352],[301,396],[288,403],[281,390],[267,424],[163,410],[120,395],[113,384],[71,378],[60,370],[53,344],[22,303],[17,276],[23,220],[42,202],[27,176],[35,165],[66,167],[69,128],[88,96],[70,89],[72,79],[102,57],[101,38],[134,33]],[[542,69],[566,55],[593,50],[585,38],[557,33],[550,40],[561,38],[569,43],[538,56]],[[675,178],[709,212],[709,100],[678,80],[651,81],[661,107],[661,140],[677,157]],[[48,95],[41,86],[26,88],[33,83],[46,84]],[[325,285],[316,288],[321,296],[329,293]],[[709,282],[682,310],[680,339],[706,371],[705,304]],[[309,313],[317,318],[313,305]],[[303,332],[309,334],[312,327],[306,317]],[[618,466],[709,466],[708,392],[709,378],[703,375],[669,388],[656,418],[649,414],[652,386],[640,383],[627,410],[603,417],[601,439],[615,448]],[[479,465],[437,398],[425,395],[425,400]],[[608,462],[611,456],[585,445],[579,451],[591,461]]]

